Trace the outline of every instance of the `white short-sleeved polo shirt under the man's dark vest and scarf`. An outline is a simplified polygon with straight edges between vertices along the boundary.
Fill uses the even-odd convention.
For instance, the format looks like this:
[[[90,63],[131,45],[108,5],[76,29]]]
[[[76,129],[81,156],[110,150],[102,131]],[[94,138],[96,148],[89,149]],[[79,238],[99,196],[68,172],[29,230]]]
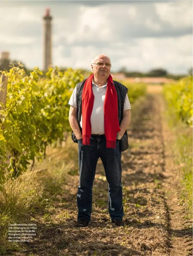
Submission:
[[[92,90],[94,94],[94,105],[91,114],[91,134],[104,134],[104,99],[106,94],[106,86],[107,83],[102,87],[99,87],[93,82]],[[73,90],[68,104],[77,108],[76,87]],[[128,95],[126,94],[123,111],[127,109],[131,109],[131,105]],[[80,126],[82,127],[82,115]]]

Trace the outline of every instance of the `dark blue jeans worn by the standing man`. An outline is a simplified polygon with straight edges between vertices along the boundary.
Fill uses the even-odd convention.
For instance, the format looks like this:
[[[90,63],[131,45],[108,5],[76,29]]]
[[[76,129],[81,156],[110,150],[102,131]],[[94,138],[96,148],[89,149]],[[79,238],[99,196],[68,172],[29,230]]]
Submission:
[[[108,212],[111,220],[123,219],[123,194],[121,184],[121,151],[119,140],[116,149],[106,148],[105,135],[90,138],[90,146],[78,140],[79,186],[77,192],[78,220],[90,221],[92,211],[92,188],[98,158],[101,158],[108,182]]]

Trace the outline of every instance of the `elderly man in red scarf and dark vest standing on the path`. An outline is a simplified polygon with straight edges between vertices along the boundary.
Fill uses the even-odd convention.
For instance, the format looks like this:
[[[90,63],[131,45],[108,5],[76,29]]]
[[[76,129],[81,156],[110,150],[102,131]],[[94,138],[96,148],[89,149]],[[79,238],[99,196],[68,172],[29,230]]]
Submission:
[[[111,221],[122,226],[121,151],[128,148],[126,129],[131,120],[128,89],[112,79],[107,56],[96,56],[91,69],[93,74],[76,85],[69,101],[72,140],[78,143],[79,159],[76,227],[88,226],[91,219],[92,188],[99,157],[108,182]]]

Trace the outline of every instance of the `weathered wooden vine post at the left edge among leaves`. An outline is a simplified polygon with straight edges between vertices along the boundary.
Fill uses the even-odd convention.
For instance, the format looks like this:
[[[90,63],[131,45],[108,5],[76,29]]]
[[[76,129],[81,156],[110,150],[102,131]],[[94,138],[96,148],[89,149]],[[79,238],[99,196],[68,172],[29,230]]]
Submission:
[[[2,75],[1,76],[1,83],[0,83],[0,103],[3,103],[4,106],[6,106],[6,98],[7,98],[7,76]],[[0,110],[3,110],[4,107],[0,105]],[[2,118],[2,115],[0,114],[0,118]],[[4,125],[0,126],[0,128],[3,130],[5,127]],[[2,161],[0,160],[0,170],[3,171],[3,165]]]

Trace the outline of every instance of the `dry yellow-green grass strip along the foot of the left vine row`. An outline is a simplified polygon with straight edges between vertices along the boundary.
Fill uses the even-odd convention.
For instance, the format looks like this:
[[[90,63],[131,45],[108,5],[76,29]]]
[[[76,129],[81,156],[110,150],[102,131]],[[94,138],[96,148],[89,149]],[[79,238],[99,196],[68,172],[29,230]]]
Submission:
[[[33,212],[44,210],[63,191],[66,174],[76,167],[75,162],[68,157],[70,148],[72,145],[59,150],[48,148],[45,160],[35,163],[32,170],[29,168],[18,179],[8,179],[2,186],[0,252],[10,246],[7,241],[8,223],[26,223],[26,219],[31,222]]]

